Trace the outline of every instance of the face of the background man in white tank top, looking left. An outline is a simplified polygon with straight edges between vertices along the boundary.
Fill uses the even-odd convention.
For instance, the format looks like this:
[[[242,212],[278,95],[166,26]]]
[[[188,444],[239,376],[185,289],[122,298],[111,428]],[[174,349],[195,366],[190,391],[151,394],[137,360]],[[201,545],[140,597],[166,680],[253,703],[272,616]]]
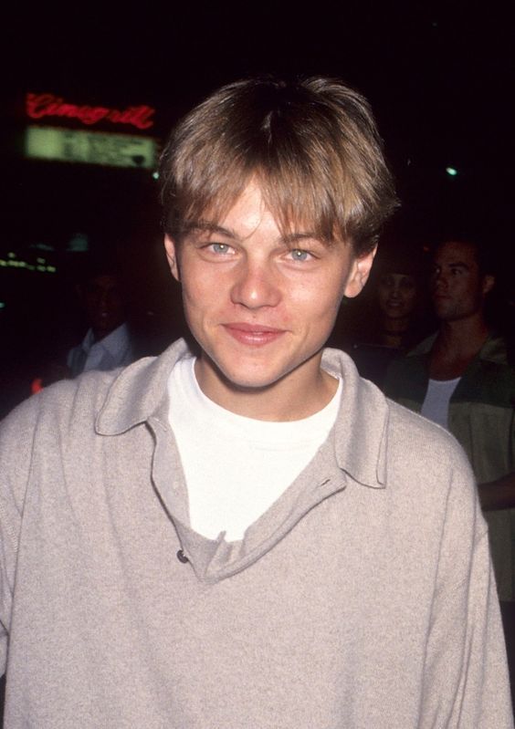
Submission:
[[[492,276],[482,276],[474,247],[451,241],[436,250],[431,296],[436,317],[455,321],[481,312]]]

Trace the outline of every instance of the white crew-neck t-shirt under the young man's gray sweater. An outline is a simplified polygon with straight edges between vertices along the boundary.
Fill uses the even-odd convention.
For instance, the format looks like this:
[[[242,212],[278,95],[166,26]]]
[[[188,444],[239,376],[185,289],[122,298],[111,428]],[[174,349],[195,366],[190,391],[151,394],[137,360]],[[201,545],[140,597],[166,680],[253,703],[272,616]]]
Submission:
[[[336,420],[342,380],[328,405],[309,418],[265,422],[209,400],[194,375],[194,357],[168,380],[169,420],[188,489],[190,526],[215,539],[242,539],[310,463]]]

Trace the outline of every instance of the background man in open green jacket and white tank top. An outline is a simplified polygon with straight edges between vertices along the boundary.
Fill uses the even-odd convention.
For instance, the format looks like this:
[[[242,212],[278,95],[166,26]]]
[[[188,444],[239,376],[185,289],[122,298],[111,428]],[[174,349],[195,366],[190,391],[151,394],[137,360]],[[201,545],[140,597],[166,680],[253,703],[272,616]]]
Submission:
[[[436,247],[431,297],[438,329],[394,361],[385,392],[452,432],[478,481],[515,677],[515,369],[487,318],[495,274],[472,238]]]

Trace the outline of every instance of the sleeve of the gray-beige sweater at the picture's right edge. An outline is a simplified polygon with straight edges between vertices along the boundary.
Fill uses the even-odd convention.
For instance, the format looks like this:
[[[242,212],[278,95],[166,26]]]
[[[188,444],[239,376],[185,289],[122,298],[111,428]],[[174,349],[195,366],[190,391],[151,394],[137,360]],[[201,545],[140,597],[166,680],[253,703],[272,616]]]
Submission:
[[[513,727],[488,531],[468,463],[449,490],[424,686],[421,729]]]

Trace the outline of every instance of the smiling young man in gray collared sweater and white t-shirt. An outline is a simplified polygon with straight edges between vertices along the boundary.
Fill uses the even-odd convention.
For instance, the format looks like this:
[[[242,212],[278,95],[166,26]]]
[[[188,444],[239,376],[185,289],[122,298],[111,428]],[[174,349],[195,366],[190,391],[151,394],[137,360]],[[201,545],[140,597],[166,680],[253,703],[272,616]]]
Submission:
[[[3,426],[7,726],[511,727],[466,458],[322,349],[394,207],[366,102],[232,84],[161,177],[195,343]]]

